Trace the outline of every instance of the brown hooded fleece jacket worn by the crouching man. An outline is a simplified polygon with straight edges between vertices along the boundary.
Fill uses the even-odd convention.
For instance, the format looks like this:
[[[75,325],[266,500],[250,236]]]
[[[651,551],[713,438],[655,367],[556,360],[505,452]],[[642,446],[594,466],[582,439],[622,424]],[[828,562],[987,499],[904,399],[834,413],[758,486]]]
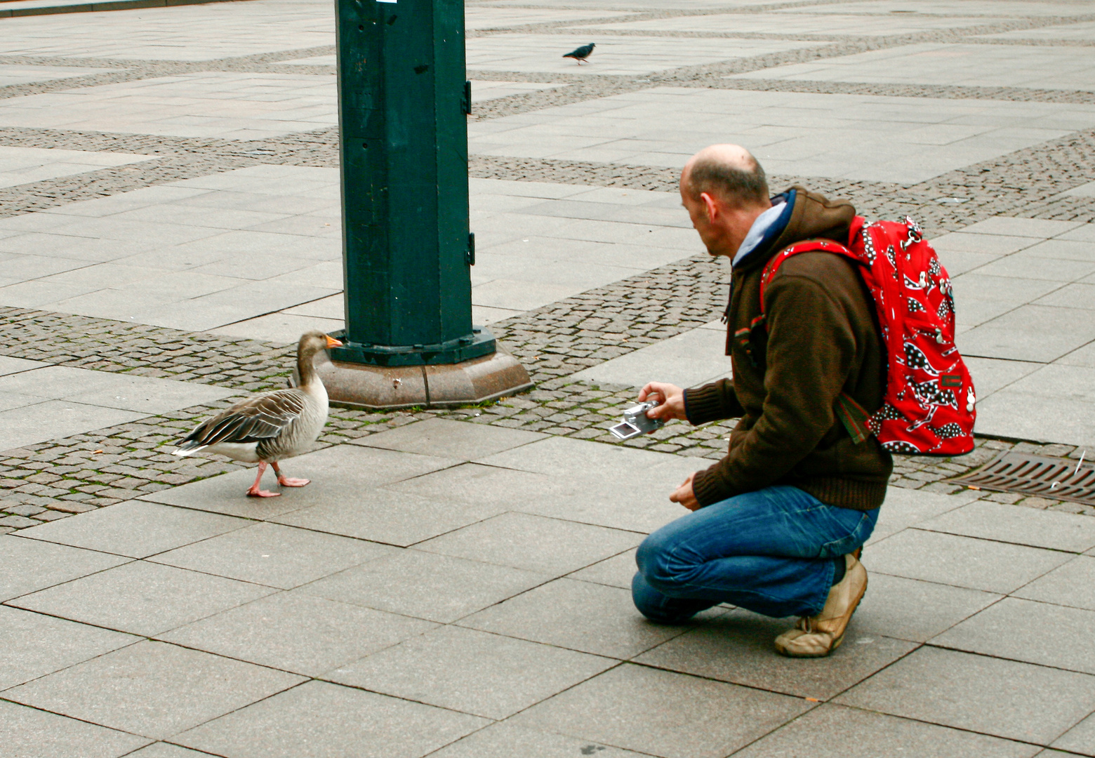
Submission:
[[[833,404],[848,392],[868,412],[881,406],[886,358],[874,305],[855,264],[825,252],[783,262],[764,289],[764,264],[796,242],[827,238],[848,243],[855,208],[795,187],[791,219],[768,250],[731,274],[727,355],[734,380],[684,393],[693,424],[740,416],[729,452],[696,473],[701,505],[773,484],[789,484],[822,503],[869,510],[881,505],[894,469],[874,437],[858,445]]]

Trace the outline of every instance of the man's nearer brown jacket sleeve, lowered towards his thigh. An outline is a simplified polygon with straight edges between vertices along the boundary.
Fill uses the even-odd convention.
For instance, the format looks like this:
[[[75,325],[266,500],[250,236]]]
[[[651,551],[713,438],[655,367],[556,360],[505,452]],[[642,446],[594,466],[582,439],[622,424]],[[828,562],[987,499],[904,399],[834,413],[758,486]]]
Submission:
[[[734,430],[725,458],[696,473],[692,487],[701,505],[785,479],[835,423],[833,403],[856,352],[849,303],[789,267],[765,290],[763,409],[749,428]]]

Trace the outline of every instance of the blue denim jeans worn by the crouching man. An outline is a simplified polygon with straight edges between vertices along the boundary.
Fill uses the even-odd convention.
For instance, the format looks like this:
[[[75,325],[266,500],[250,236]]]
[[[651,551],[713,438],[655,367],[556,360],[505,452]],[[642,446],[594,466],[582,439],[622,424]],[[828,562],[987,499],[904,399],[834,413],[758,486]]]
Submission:
[[[838,555],[871,537],[874,510],[826,505],[798,487],[737,495],[671,521],[635,556],[635,607],[679,623],[719,602],[772,617],[817,616]]]

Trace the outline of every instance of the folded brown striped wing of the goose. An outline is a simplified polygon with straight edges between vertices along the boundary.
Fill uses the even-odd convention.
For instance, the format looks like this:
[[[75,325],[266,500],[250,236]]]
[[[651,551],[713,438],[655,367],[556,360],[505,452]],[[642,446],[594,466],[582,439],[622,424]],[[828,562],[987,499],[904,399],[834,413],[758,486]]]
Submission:
[[[257,443],[277,437],[304,412],[300,390],[277,390],[237,403],[203,422],[184,439],[180,450],[196,450],[218,443]]]

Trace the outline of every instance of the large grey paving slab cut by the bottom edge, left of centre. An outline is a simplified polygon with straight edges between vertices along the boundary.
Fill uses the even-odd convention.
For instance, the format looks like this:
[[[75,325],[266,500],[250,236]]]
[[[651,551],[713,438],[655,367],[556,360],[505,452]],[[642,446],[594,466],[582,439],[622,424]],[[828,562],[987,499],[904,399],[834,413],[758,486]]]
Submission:
[[[310,681],[177,735],[233,758],[419,758],[489,724],[485,719]]]

